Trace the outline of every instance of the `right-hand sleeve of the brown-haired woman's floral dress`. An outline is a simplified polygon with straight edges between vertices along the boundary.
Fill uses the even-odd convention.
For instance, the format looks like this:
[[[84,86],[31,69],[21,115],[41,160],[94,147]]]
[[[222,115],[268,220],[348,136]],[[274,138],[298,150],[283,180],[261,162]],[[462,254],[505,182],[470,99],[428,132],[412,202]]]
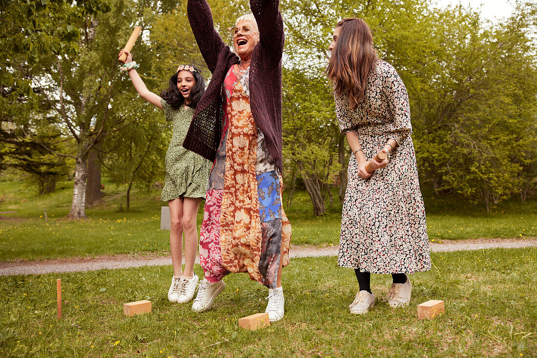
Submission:
[[[400,144],[412,133],[408,93],[401,77],[391,65],[386,70],[385,76],[384,95],[393,118],[393,122],[388,124],[388,139],[391,138]]]

